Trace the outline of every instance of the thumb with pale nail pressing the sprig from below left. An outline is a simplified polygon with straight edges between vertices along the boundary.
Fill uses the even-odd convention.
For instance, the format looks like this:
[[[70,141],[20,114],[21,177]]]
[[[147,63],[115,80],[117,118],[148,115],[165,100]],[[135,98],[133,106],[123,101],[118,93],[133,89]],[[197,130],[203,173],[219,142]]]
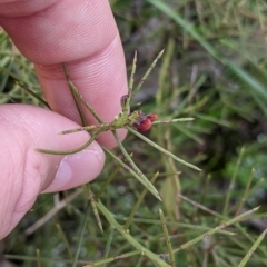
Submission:
[[[20,221],[40,192],[69,189],[100,174],[105,154],[97,142],[68,156],[36,151],[82,146],[90,138],[86,131],[58,135],[77,127],[50,110],[26,105],[0,106],[0,239]]]

